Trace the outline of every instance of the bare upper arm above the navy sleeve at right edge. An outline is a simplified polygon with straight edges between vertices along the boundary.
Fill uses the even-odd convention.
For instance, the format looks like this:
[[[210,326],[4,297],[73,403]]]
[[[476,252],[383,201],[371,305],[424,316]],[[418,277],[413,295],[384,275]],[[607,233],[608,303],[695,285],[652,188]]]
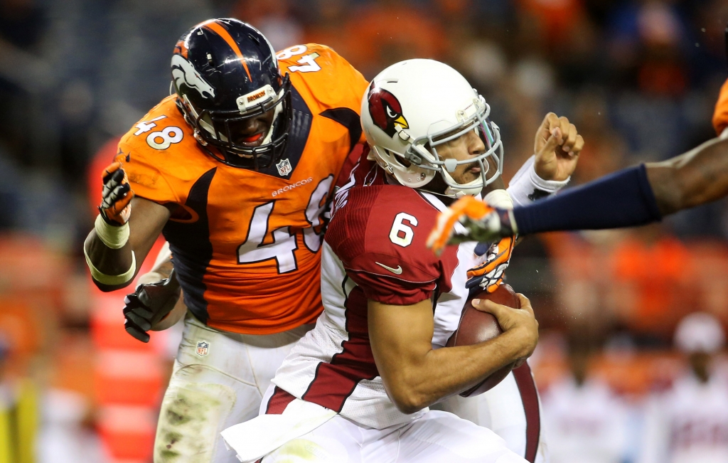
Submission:
[[[713,138],[646,168],[662,215],[715,201],[728,194],[728,139]]]

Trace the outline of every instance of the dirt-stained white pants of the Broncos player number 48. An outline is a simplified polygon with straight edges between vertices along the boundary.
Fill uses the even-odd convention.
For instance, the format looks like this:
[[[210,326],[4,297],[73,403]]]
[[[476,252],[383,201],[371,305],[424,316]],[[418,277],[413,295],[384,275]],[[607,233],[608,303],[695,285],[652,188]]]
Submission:
[[[220,432],[258,416],[293,344],[314,325],[263,336],[223,333],[191,314],[159,412],[154,463],[240,463]]]

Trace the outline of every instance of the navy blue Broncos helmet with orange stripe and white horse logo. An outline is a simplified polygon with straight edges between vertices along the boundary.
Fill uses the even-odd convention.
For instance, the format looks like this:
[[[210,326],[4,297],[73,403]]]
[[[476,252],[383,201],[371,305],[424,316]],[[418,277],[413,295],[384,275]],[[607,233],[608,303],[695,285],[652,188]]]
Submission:
[[[259,170],[280,158],[291,120],[290,80],[280,75],[270,42],[252,25],[213,19],[184,33],[172,57],[172,87],[194,137],[218,161]],[[256,135],[260,144],[240,137],[241,127],[269,118],[269,111],[270,127]]]

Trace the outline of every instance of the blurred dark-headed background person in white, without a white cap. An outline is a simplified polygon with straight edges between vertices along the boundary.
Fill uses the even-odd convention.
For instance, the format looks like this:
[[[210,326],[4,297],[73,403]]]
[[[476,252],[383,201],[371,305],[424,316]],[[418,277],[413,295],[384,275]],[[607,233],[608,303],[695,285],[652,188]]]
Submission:
[[[588,345],[572,343],[571,375],[543,396],[543,425],[552,463],[621,463],[627,453],[625,403],[600,379],[587,376]]]

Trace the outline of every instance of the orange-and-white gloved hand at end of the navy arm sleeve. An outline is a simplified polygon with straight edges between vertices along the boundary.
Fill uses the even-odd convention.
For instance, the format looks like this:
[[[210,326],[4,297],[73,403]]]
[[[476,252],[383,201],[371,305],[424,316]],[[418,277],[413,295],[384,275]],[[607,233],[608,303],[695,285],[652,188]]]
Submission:
[[[455,231],[458,222],[464,225],[460,232]],[[516,234],[512,210],[490,207],[472,196],[464,196],[438,214],[435,228],[427,237],[427,248],[439,256],[446,245],[464,241],[494,242]]]

